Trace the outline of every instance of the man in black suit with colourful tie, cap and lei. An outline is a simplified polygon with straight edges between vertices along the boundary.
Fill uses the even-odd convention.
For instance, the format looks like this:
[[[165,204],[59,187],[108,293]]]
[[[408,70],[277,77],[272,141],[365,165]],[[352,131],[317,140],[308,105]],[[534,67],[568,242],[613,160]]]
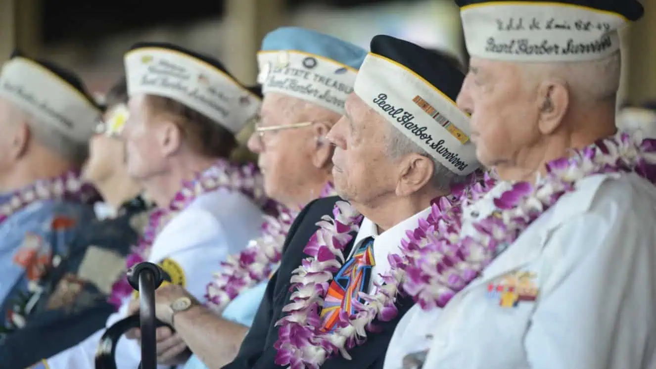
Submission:
[[[468,119],[455,106],[463,79],[417,45],[371,41],[344,117],[327,136],[335,188],[348,202],[320,199],[299,214],[253,326],[224,368],[382,367],[412,305],[395,299],[388,258],[431,203],[446,201],[478,167]]]

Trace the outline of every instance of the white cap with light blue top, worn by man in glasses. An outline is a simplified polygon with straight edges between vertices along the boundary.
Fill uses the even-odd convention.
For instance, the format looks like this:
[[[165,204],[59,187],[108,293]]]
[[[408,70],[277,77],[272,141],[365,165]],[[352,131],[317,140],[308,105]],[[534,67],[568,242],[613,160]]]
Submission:
[[[262,92],[279,92],[344,113],[367,51],[331,35],[283,27],[264,37],[258,52]]]

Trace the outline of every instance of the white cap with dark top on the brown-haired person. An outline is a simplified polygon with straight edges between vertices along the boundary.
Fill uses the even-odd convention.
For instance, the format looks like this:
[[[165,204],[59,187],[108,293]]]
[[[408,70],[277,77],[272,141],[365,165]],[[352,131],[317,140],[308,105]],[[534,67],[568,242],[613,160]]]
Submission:
[[[233,133],[260,109],[261,98],[206,54],[171,43],[140,42],[125,54],[129,96],[171,98]]]

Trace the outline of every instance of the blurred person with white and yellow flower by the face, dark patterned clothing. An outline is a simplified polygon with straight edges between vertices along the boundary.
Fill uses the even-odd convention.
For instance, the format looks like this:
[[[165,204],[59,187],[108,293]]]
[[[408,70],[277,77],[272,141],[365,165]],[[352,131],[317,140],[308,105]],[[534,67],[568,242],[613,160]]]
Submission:
[[[26,325],[0,343],[0,358],[7,368],[25,368],[75,345],[104,327],[114,311],[108,294],[125,269],[125,258],[144,229],[149,208],[138,197],[141,186],[127,175],[123,143],[117,139],[127,117],[126,103],[127,86],[121,78],[106,96],[104,119],[89,142],[83,170],[83,178],[96,186],[105,202],[94,204],[98,219],[72,239],[75,252],[64,256],[39,284],[43,294]]]

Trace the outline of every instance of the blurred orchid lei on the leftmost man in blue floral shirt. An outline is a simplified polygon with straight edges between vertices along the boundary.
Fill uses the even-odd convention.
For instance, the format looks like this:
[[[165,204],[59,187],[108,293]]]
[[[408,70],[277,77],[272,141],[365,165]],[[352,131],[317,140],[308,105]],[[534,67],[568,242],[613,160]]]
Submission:
[[[5,222],[18,210],[39,201],[64,199],[92,203],[99,198],[96,189],[80,179],[79,172],[69,171],[14,191],[7,201],[0,205],[0,223]]]

